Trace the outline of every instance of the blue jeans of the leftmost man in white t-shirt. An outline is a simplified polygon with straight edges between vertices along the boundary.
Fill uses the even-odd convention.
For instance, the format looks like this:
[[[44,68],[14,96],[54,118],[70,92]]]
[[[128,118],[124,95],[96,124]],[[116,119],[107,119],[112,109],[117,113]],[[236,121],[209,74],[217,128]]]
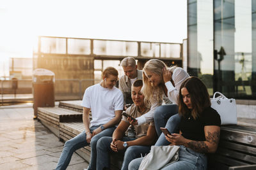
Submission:
[[[99,126],[97,125],[97,126],[90,127],[90,131],[91,132],[94,131]],[[96,169],[95,166],[96,166],[96,157],[97,157],[97,155],[96,155],[97,154],[97,152],[96,152],[97,141],[98,141],[98,139],[102,138],[102,136],[112,136],[115,129],[116,129],[116,127],[110,127],[108,129],[105,129],[104,131],[100,132],[99,134],[93,136],[93,138],[91,139],[91,143],[87,143],[85,131],[81,132],[76,137],[66,141],[63,151],[61,153],[60,159],[58,161],[56,170],[67,169],[67,166],[71,160],[73,153],[76,150],[83,148],[84,146],[88,146],[88,145],[91,146],[91,160],[90,160],[89,167],[90,167],[90,169]]]

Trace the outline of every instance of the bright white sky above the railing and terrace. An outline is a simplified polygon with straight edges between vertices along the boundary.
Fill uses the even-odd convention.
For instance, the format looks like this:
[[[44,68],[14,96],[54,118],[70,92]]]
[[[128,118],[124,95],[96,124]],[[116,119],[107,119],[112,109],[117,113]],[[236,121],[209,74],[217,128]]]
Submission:
[[[37,36],[182,43],[186,0],[0,0],[0,71]],[[8,66],[7,66],[8,67]]]

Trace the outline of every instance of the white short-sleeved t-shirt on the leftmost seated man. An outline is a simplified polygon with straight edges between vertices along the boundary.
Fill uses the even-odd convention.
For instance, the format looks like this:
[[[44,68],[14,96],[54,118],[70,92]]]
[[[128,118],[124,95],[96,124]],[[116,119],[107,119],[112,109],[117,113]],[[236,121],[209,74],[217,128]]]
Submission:
[[[116,87],[108,89],[98,83],[85,90],[81,106],[91,109],[92,127],[108,123],[115,117],[115,111],[123,110],[124,97],[121,90]]]

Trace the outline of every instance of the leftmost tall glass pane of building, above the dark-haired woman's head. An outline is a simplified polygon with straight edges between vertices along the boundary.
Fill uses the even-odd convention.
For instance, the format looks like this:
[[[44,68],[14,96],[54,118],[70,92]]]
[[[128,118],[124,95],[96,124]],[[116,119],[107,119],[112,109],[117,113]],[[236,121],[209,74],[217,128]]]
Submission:
[[[211,0],[188,4],[188,72],[202,80],[213,94],[213,4]]]

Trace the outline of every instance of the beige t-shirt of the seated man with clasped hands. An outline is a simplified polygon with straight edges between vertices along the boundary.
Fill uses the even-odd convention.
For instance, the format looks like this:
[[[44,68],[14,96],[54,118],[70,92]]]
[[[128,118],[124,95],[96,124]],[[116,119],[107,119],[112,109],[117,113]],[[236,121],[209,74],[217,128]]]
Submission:
[[[143,111],[142,113],[139,111],[138,107],[135,106],[135,104],[132,104],[132,106],[130,106],[127,110],[126,113],[128,115],[130,115],[131,117],[137,118],[140,117],[141,115],[147,113],[150,110],[150,108],[146,108],[145,111]],[[128,122],[127,118],[123,116],[122,120],[124,120],[124,122]],[[147,124],[142,124],[142,125],[134,125],[134,131],[136,132],[136,138],[140,138],[142,136],[146,136],[147,135],[147,131],[148,131],[148,127],[150,125],[155,125],[154,122],[150,122]]]

